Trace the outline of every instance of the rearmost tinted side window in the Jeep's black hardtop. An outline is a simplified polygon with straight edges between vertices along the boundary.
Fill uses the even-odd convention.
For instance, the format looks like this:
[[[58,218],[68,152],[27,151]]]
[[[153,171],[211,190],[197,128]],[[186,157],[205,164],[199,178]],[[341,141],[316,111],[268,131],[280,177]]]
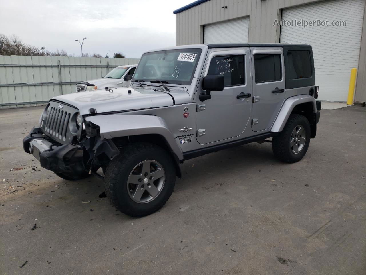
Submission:
[[[288,51],[290,79],[311,77],[311,60],[309,51]]]

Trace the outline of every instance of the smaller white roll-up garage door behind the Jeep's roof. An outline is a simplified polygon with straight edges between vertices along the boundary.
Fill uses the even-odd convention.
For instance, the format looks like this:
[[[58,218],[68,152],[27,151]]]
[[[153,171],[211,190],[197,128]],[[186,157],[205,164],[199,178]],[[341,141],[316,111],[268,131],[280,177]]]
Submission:
[[[247,43],[249,17],[213,23],[203,28],[203,43]]]

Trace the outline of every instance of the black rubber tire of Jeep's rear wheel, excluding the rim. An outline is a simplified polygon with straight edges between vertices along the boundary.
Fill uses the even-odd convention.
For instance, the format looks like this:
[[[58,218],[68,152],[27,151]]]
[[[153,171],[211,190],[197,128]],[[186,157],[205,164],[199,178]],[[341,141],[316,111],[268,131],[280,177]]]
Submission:
[[[303,126],[306,133],[305,143],[301,151],[295,154],[291,150],[290,139],[292,131],[298,125]],[[275,156],[281,161],[294,163],[300,161],[306,154],[307,148],[310,144],[310,123],[309,120],[300,114],[291,114],[288,118],[282,132],[272,139],[272,150]]]

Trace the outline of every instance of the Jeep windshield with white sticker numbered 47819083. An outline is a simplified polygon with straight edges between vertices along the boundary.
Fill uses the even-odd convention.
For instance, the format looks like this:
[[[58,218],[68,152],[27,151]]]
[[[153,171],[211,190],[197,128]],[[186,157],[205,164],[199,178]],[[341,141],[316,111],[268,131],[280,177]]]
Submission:
[[[147,52],[141,56],[133,80],[188,85],[192,82],[200,55],[201,49]]]

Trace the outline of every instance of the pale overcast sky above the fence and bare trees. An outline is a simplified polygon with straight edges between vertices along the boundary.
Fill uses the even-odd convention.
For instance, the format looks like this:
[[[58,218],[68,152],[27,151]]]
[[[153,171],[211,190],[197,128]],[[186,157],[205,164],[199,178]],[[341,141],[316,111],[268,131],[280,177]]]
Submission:
[[[173,10],[194,0],[0,0],[0,33],[27,44],[81,55],[107,51],[138,58],[175,45]],[[111,54],[109,54],[111,56]]]

